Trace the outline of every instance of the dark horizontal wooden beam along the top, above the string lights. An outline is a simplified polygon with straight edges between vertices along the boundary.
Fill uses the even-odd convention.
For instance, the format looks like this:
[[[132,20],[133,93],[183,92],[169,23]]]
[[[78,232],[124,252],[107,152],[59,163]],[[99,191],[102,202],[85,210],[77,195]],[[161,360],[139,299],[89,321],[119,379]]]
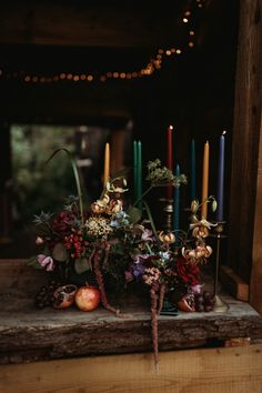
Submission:
[[[3,2],[0,42],[85,47],[155,47],[173,43],[178,6],[129,2]],[[164,27],[164,28],[163,28]]]

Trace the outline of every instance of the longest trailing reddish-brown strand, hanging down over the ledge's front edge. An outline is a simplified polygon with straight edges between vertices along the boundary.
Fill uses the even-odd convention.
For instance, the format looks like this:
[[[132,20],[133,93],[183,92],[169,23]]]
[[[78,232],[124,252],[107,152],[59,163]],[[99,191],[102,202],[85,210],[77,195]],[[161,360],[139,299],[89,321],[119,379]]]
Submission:
[[[152,284],[150,289],[151,296],[151,334],[153,341],[154,366],[155,372],[159,371],[159,337],[158,337],[158,291],[159,285]]]

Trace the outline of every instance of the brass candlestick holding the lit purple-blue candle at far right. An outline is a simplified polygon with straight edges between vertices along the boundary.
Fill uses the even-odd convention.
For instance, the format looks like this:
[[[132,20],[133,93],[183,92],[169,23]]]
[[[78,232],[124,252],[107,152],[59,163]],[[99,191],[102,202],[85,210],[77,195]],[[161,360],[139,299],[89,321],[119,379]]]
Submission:
[[[220,266],[220,243],[221,239],[225,238],[225,235],[222,234],[224,230],[224,224],[225,221],[219,221],[216,222],[218,225],[214,228],[215,234],[214,236],[216,238],[216,255],[215,255],[215,271],[214,271],[214,305],[213,305],[213,311],[214,312],[226,312],[229,311],[229,304],[226,304],[219,295],[218,295],[218,285],[219,285],[219,266]]]

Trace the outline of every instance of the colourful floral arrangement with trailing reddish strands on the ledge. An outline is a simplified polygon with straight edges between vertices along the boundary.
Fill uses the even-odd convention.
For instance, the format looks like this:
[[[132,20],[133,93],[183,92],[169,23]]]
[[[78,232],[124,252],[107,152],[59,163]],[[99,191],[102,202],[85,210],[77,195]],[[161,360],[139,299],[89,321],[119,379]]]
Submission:
[[[125,205],[124,194],[129,190],[125,178],[120,175],[108,180],[101,196],[87,211],[74,165],[79,195],[70,195],[57,214],[41,212],[34,216],[36,243],[41,251],[29,260],[29,264],[59,274],[62,284],[71,284],[73,295],[74,289],[83,283],[79,281],[74,288],[72,276],[87,278],[89,274],[100,290],[103,306],[115,315],[120,310],[108,301],[104,282],[108,278],[123,288],[130,282],[148,288],[158,365],[158,315],[168,295],[182,310],[187,309],[185,304],[187,311],[194,310],[190,299],[200,292],[200,266],[212,253],[205,240],[213,224],[199,219],[201,204],[193,201],[187,232],[157,230],[144,196],[155,187],[187,183],[184,174],[173,175],[160,160],[148,163],[145,181],[149,187],[139,200]],[[215,209],[212,196],[206,202],[212,202]],[[70,299],[73,299],[72,294]],[[71,303],[67,302],[67,305]],[[56,304],[59,308],[58,299]]]

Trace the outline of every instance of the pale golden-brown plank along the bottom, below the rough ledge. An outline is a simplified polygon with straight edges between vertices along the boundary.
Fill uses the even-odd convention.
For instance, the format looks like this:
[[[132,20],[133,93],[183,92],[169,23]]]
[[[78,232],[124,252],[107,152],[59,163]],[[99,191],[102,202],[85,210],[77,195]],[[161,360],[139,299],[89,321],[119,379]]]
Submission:
[[[8,364],[1,393],[261,393],[262,345]],[[1,390],[2,389],[2,390]]]

